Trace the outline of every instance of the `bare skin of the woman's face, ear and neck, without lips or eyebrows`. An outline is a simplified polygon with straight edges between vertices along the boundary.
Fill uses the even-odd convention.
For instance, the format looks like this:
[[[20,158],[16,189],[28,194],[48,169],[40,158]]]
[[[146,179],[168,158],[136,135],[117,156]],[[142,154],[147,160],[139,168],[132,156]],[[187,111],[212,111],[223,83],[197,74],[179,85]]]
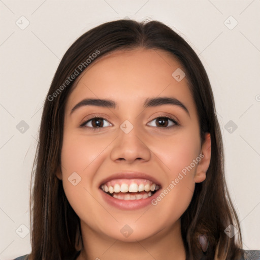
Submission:
[[[167,52],[135,49],[116,51],[93,61],[81,75],[65,108],[61,169],[64,192],[81,220],[84,248],[80,259],[185,259],[180,217],[190,204],[194,186],[206,178],[211,142],[206,134],[200,141],[196,106],[187,79],[177,82],[172,73],[181,65]],[[182,69],[184,71],[184,69]],[[174,97],[180,107],[161,105],[143,108],[147,98]],[[85,98],[109,99],[116,108],[83,106],[72,108]],[[104,127],[86,119],[106,117]],[[173,117],[180,125],[159,127],[159,116]],[[125,134],[125,120],[134,128]],[[158,121],[158,120],[157,120]],[[148,125],[148,123],[151,125]],[[92,128],[91,128],[92,127]],[[99,185],[116,172],[139,171],[155,177],[164,190],[200,154],[200,160],[156,206],[121,210],[108,205]],[[72,185],[73,172],[81,181]],[[133,233],[127,238],[120,230],[127,224]]]

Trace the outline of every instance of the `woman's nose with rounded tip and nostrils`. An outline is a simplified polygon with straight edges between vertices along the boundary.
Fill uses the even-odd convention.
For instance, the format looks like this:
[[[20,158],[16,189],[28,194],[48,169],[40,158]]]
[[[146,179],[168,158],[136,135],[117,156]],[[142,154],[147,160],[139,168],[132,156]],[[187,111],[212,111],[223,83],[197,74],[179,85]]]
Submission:
[[[145,134],[133,127],[129,133],[124,133],[119,129],[119,136],[114,142],[111,151],[111,159],[113,161],[125,161],[133,163],[135,160],[148,161],[151,158],[151,151],[148,148]]]

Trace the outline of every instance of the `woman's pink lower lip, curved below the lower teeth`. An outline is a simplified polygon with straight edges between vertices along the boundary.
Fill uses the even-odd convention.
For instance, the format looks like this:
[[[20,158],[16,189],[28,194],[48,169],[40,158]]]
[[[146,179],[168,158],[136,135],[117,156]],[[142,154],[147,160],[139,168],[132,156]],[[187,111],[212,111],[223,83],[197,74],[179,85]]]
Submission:
[[[140,200],[119,200],[116,199],[109,194],[105,193],[102,189],[100,189],[102,193],[102,197],[106,203],[109,205],[116,207],[118,209],[123,210],[135,210],[135,209],[141,209],[148,205],[152,205],[152,200],[157,196],[157,192],[152,194],[151,197],[148,197],[146,199],[140,199]],[[158,190],[157,190],[158,191]]]

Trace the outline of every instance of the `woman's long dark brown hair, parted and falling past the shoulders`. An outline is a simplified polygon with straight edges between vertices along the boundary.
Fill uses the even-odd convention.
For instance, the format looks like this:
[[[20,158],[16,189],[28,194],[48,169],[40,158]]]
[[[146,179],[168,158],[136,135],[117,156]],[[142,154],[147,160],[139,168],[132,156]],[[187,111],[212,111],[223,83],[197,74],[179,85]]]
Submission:
[[[182,64],[199,115],[201,141],[205,133],[211,135],[207,178],[196,183],[191,203],[181,216],[186,259],[233,260],[240,257],[240,225],[224,178],[221,132],[213,92],[202,62],[182,37],[159,21],[117,20],[92,28],[72,44],[60,61],[46,96],[31,175],[34,185],[31,185],[30,199],[30,260],[73,259],[78,250],[79,217],[70,206],[56,173],[62,171],[64,107],[75,80],[84,71],[79,65],[84,64],[85,68],[89,56],[99,59],[112,51],[140,47],[167,51]],[[77,74],[74,79],[73,74]],[[238,231],[237,240],[225,234],[229,225]],[[199,243],[200,235],[208,239],[206,252]]]

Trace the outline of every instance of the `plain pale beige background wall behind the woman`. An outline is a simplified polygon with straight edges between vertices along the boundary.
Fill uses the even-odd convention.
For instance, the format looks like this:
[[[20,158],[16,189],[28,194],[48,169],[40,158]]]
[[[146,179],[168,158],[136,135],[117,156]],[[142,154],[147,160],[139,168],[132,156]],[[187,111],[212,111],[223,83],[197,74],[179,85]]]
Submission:
[[[43,102],[62,55],[88,29],[125,17],[168,24],[202,59],[215,95],[243,248],[260,250],[259,10],[259,0],[1,0],[0,260],[31,250],[30,174]],[[232,133],[230,120],[237,125]]]

